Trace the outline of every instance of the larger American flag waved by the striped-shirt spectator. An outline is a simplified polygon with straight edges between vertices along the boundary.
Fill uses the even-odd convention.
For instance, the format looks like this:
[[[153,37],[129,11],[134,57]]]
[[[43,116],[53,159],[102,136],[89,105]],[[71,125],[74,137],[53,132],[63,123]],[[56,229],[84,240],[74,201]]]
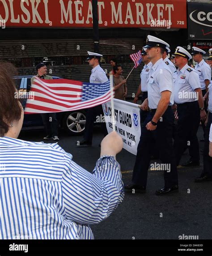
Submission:
[[[110,101],[110,81],[83,83],[68,79],[34,78],[25,114],[62,112],[98,106]]]

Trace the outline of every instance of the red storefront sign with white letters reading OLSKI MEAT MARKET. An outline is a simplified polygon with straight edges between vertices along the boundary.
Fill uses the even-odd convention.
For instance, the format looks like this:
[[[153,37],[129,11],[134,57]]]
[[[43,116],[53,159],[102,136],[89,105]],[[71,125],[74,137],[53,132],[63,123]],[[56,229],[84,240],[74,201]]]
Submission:
[[[187,28],[186,0],[98,0],[99,27]],[[93,26],[92,0],[0,0],[6,27]]]

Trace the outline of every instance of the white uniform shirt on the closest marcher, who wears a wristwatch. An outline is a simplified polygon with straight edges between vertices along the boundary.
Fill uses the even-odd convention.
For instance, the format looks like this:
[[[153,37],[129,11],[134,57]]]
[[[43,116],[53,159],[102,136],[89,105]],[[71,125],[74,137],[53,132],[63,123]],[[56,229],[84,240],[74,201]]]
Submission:
[[[158,60],[149,71],[148,77],[148,105],[151,109],[157,108],[161,99],[161,92],[173,91],[173,76],[170,68],[167,67],[163,59]],[[170,98],[170,106],[174,103],[173,94]]]

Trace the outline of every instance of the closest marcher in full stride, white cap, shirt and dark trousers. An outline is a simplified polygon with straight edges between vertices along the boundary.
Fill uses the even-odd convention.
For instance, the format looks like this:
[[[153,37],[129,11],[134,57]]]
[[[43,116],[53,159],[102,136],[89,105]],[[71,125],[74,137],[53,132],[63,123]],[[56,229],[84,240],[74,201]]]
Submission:
[[[166,47],[169,47],[168,43],[148,35],[147,45],[144,48],[147,48],[147,57],[153,65],[148,77],[148,98],[142,103],[141,108],[143,110],[149,108],[149,112],[141,128],[132,183],[125,185],[128,191],[132,189],[140,193],[146,191],[152,139],[158,145],[161,162],[169,166],[169,170],[164,168],[165,186],[157,190],[156,194],[164,195],[178,191],[178,173],[172,143],[173,76],[162,59]]]

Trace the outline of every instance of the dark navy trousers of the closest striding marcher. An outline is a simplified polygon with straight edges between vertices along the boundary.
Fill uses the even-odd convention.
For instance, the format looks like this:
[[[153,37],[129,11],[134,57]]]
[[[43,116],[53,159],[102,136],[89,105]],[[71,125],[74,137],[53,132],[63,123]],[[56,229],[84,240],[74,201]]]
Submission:
[[[159,149],[161,162],[170,165],[170,172],[164,171],[165,188],[170,188],[174,185],[178,185],[178,172],[172,141],[174,114],[171,107],[168,107],[162,116],[162,121],[158,121],[156,130],[148,131],[146,124],[153,119],[154,114],[155,112],[148,112],[147,118],[141,128],[132,182],[146,187],[152,151],[151,147],[153,145],[151,142],[154,140]]]

